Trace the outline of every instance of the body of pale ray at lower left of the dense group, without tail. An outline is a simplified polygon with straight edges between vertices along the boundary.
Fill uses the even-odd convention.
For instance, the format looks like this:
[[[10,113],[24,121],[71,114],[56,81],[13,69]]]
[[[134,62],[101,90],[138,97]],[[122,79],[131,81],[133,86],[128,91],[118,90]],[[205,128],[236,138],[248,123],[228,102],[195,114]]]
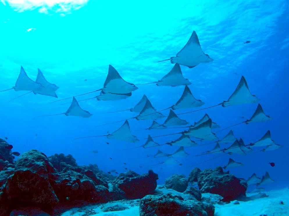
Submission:
[[[136,138],[136,136],[133,136],[131,134],[128,120],[125,120],[124,124],[119,129],[117,129],[112,134],[108,134],[106,137],[108,139],[116,139],[116,140],[121,140],[121,141],[127,141],[130,143],[135,143],[139,141]]]

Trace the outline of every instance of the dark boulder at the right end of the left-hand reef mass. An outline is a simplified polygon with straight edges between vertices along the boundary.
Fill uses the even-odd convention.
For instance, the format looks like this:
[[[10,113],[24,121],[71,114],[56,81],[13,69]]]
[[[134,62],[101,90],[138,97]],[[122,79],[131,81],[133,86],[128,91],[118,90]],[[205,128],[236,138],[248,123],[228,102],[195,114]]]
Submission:
[[[145,195],[154,193],[157,187],[157,179],[158,174],[152,170],[143,175],[128,171],[119,174],[112,184],[113,188],[118,188],[125,193],[126,199],[141,199]]]

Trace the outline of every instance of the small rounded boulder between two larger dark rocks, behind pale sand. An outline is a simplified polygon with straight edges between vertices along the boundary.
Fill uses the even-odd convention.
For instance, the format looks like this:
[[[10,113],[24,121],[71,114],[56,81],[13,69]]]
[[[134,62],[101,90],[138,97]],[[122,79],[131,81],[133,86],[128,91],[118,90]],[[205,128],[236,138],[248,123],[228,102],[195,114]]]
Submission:
[[[184,175],[174,174],[166,179],[165,187],[184,192],[188,187],[188,179]]]

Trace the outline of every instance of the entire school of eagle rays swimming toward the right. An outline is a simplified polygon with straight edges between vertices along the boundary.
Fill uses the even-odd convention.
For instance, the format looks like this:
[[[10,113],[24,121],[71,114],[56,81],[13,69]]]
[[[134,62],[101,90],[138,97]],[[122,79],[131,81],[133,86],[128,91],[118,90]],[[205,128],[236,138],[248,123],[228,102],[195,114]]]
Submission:
[[[270,130],[267,130],[267,132],[264,131],[264,135],[260,137],[260,139],[252,140],[251,143],[244,143],[242,138],[236,138],[233,130],[231,129],[232,127],[240,124],[248,125],[251,123],[261,123],[272,119],[271,116],[264,112],[260,103],[261,100],[249,90],[248,83],[250,84],[251,80],[248,80],[249,82],[247,82],[245,77],[241,76],[238,83],[232,82],[230,84],[231,92],[233,93],[231,95],[227,95],[227,100],[226,98],[223,98],[223,100],[220,100],[220,103],[207,106],[207,104],[210,104],[210,101],[202,101],[197,99],[200,96],[195,95],[195,97],[193,95],[196,84],[194,83],[194,80],[189,80],[188,78],[184,77],[182,69],[190,70],[193,73],[194,67],[201,63],[213,64],[213,58],[204,53],[201,48],[199,37],[195,31],[192,32],[188,42],[183,46],[183,48],[180,47],[179,50],[180,51],[176,53],[175,56],[159,61],[160,63],[158,64],[167,64],[166,62],[171,62],[173,64],[173,66],[172,64],[167,64],[167,71],[163,71],[163,77],[160,80],[156,78],[155,82],[133,84],[122,78],[122,76],[126,75],[125,70],[118,71],[117,65],[108,65],[108,73],[102,87],[95,86],[90,92],[80,92],[79,95],[74,96],[67,95],[67,98],[60,98],[59,100],[52,101],[51,103],[66,100],[67,102],[64,104],[67,104],[67,108],[59,106],[58,110],[55,110],[55,113],[44,113],[42,116],[38,117],[47,116],[51,118],[58,118],[57,116],[59,115],[65,115],[68,117],[77,116],[92,119],[92,116],[97,114],[106,113],[109,116],[109,113],[117,113],[119,118],[113,119],[115,121],[108,121],[103,122],[102,125],[95,125],[95,127],[100,128],[95,131],[101,131],[101,126],[109,124],[111,131],[113,132],[106,132],[103,134],[78,134],[78,137],[74,137],[75,142],[83,138],[97,139],[99,137],[104,137],[106,139],[117,140],[121,142],[124,147],[126,147],[126,143],[132,143],[129,146],[135,145],[134,143],[141,143],[124,150],[145,151],[149,148],[150,152],[156,151],[155,154],[147,155],[147,158],[150,158],[151,161],[153,161],[153,165],[151,166],[181,166],[183,163],[188,163],[188,165],[190,165],[190,161],[188,159],[192,156],[198,157],[201,155],[223,154],[221,156],[230,156],[228,163],[225,164],[223,168],[234,169],[236,167],[246,165],[239,162],[239,157],[258,152],[265,152],[268,150],[276,150],[282,147],[271,138]],[[206,64],[206,66],[210,67],[210,64]],[[42,73],[42,71],[44,73]],[[31,95],[29,93],[58,98],[56,91],[59,89],[59,87],[56,84],[50,83],[48,81],[48,77],[44,77],[45,70],[38,69],[37,72],[37,78],[35,81],[33,81],[28,77],[26,71],[21,66],[15,86],[0,92],[5,92],[12,89],[15,91],[25,91],[25,94],[17,96],[12,100],[17,100],[17,98],[22,96],[29,97],[29,95]],[[137,83],[137,80],[134,80],[133,82]],[[140,85],[145,85],[144,89],[169,87],[174,91],[176,88],[181,88],[183,89],[183,93],[177,96],[179,98],[177,101],[171,101],[170,98],[167,98],[167,100],[170,101],[170,107],[154,107],[153,100],[151,100],[153,98],[147,97],[145,92],[143,93],[143,96],[138,99],[136,104],[126,104],[127,109],[124,110],[115,109],[107,112],[91,113],[88,111],[90,109],[89,106],[81,104],[81,101],[85,100],[94,100],[95,103],[99,103],[98,101],[104,101],[105,103],[105,101],[111,100],[124,101],[129,97],[133,97],[134,91],[140,91]],[[80,96],[86,96],[88,94],[94,94],[94,96],[83,100],[78,99]],[[177,93],[175,93],[175,95],[177,95]],[[246,104],[256,104],[256,110],[251,111],[252,115],[248,116],[249,118],[247,118],[247,120],[237,124],[232,123],[232,125],[229,126],[218,125],[212,120],[214,119],[214,116],[209,116],[207,113],[200,119],[195,119],[196,121],[194,122],[188,121],[188,114],[197,111],[208,110],[217,106],[229,107]],[[184,109],[186,111],[180,111]],[[131,113],[135,113],[135,115],[132,118],[126,118],[122,115],[124,111],[130,111]],[[226,110],[223,108],[222,111],[225,118]],[[135,121],[134,125],[138,124],[140,127],[131,129],[131,121]],[[151,122],[149,123],[151,126],[148,128],[142,128],[142,121]],[[229,119],[226,122],[230,123],[231,121]],[[173,133],[164,133],[169,129],[173,129]],[[146,139],[141,140],[137,137],[138,131],[141,130],[148,132]],[[225,136],[218,134],[223,130],[225,131]],[[158,132],[159,136],[151,136],[150,132],[152,131]],[[172,135],[174,135],[174,138],[171,137]],[[160,143],[160,141],[158,141],[159,137],[167,137],[168,141]],[[106,143],[109,144],[108,142]],[[166,150],[160,150],[159,148],[161,146],[166,147]],[[190,147],[199,148],[204,153],[190,155],[188,152],[186,152],[186,149]],[[98,153],[97,150],[91,150],[91,152]],[[140,165],[140,167],[142,166]],[[110,172],[115,171],[116,170],[111,170]],[[255,173],[253,173],[248,178],[247,182],[249,186],[262,186],[264,184],[274,183],[274,180],[266,171],[263,177],[258,177]]]

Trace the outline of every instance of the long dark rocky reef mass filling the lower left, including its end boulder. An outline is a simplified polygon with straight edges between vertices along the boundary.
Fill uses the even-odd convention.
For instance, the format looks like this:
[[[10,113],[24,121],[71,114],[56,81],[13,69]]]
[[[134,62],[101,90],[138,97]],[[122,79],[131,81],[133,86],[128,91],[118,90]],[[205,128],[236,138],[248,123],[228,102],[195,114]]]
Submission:
[[[37,150],[23,153],[13,167],[7,167],[9,161],[1,164],[0,215],[46,215],[82,204],[139,199],[154,192],[158,179],[152,170],[143,175],[129,171],[109,184],[110,175],[97,165],[78,166],[71,155],[48,158]]]

